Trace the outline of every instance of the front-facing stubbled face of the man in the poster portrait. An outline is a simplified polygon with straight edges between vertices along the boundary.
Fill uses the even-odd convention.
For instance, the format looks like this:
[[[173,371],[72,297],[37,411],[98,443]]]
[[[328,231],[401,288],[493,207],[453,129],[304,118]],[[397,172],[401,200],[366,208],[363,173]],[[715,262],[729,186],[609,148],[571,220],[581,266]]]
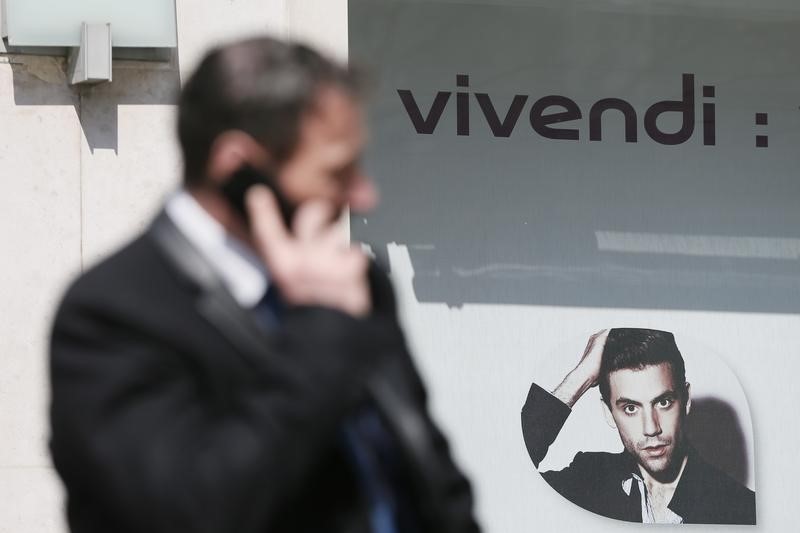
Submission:
[[[625,449],[653,477],[680,464],[688,390],[675,383],[669,363],[609,374],[609,400]]]

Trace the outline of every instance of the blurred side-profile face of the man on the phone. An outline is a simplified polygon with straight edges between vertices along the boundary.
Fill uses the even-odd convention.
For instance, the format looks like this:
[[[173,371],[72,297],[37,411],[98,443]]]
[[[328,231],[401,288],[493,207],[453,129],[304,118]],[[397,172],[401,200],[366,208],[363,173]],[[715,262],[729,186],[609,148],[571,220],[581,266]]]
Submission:
[[[336,210],[375,207],[378,196],[361,168],[366,141],[361,109],[336,88],[320,91],[316,107],[304,117],[297,149],[282,165],[278,182],[286,198],[299,205],[326,200]]]

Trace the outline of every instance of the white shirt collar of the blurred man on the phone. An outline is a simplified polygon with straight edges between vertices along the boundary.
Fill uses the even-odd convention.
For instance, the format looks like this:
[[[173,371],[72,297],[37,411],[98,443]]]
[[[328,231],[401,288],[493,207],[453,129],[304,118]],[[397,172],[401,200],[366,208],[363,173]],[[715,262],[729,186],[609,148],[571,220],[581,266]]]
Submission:
[[[243,242],[203,209],[185,189],[167,200],[167,216],[208,260],[236,302],[254,307],[267,292],[269,277],[263,263]]]

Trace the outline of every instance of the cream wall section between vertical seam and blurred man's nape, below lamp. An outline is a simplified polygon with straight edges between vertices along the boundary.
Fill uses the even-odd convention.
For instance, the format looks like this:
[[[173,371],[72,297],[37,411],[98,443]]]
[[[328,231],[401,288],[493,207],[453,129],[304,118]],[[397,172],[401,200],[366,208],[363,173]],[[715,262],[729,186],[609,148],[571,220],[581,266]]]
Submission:
[[[130,63],[115,69],[112,83],[82,91],[84,265],[143,230],[180,182],[175,107],[168,105],[178,87],[176,69]]]

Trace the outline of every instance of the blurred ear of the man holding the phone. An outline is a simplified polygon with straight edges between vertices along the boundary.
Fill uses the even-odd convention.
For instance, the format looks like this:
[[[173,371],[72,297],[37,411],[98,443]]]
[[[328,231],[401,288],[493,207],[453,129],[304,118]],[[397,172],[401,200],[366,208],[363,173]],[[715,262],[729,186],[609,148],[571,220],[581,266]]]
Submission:
[[[245,165],[263,168],[268,162],[269,154],[253,137],[228,130],[217,135],[211,144],[206,173],[209,181],[219,186]]]

